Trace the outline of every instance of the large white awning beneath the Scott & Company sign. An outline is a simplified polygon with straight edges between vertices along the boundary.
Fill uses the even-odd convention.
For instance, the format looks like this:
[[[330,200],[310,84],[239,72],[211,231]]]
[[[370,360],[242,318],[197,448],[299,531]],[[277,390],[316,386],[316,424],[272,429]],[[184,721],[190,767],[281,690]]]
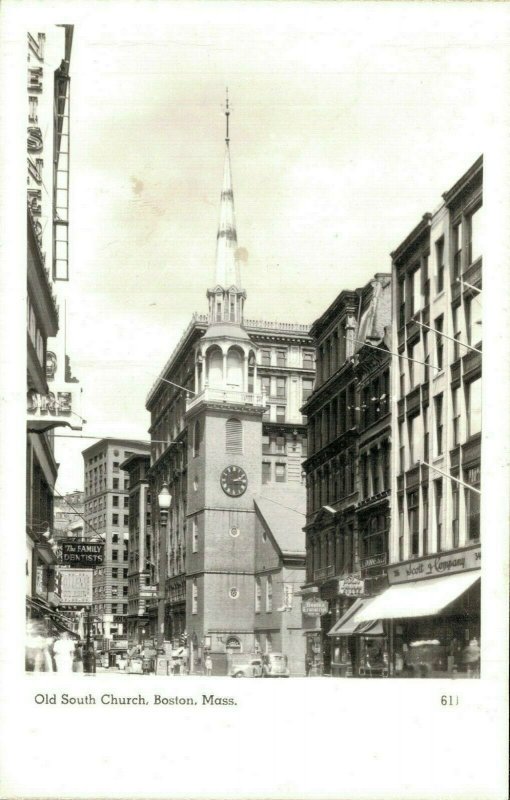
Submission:
[[[358,621],[429,617],[438,614],[478,580],[480,572],[473,571],[395,584],[367,603],[360,610]]]

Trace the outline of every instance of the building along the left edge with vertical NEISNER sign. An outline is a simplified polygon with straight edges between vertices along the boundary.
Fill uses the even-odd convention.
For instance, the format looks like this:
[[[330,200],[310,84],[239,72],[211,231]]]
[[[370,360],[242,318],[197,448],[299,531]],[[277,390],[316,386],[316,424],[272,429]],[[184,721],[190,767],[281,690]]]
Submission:
[[[47,632],[56,611],[53,430],[80,428],[79,391],[59,320],[68,270],[69,87],[72,25],[27,34],[27,617]],[[65,314],[62,316],[65,317]],[[52,546],[53,545],[53,546]]]

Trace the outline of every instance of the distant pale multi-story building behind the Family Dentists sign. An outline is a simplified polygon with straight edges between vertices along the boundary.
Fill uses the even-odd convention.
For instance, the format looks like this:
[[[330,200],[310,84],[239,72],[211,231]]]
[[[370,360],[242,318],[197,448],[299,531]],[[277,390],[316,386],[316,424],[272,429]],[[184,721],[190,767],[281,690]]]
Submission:
[[[109,649],[127,649],[129,475],[121,464],[150,446],[130,439],[101,439],[83,450],[85,537],[104,541],[104,563],[94,569],[92,612]]]

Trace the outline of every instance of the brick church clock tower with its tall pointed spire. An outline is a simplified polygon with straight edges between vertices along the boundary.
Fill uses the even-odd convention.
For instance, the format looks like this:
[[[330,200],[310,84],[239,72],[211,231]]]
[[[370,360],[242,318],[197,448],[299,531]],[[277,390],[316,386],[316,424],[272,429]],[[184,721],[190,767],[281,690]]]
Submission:
[[[253,651],[255,510],[262,483],[257,345],[243,325],[230,165],[228,95],[215,283],[208,327],[195,344],[194,393],[186,404],[186,626],[190,660],[211,651]],[[191,663],[193,668],[193,663]]]

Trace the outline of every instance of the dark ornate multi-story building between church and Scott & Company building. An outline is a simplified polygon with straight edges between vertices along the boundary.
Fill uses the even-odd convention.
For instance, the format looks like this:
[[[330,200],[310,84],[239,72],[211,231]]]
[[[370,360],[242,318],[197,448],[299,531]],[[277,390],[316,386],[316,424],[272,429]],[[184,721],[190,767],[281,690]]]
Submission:
[[[363,643],[342,620],[362,586],[375,593],[385,579],[390,284],[378,273],[363,289],[342,291],[310,331],[317,385],[302,409],[309,430],[303,627],[309,663],[324,674],[357,674]],[[325,604],[320,618],[306,613],[314,598]]]

